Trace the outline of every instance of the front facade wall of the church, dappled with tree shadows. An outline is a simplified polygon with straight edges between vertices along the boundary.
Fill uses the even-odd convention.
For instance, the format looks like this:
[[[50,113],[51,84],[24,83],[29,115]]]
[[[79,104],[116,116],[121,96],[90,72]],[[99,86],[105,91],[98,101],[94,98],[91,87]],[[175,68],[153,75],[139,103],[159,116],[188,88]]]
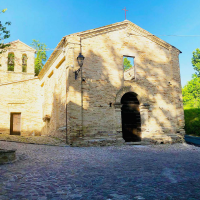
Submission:
[[[79,68],[75,64],[69,71],[67,94],[71,143],[78,138],[122,137],[120,106],[114,104],[119,105],[123,94],[131,91],[140,101],[143,140],[173,142],[180,129],[184,133],[183,108],[181,100],[177,101],[177,97],[182,98],[179,51],[138,34],[132,26],[80,34],[85,56],[83,79],[81,74],[74,79],[73,72]],[[77,44],[70,47],[71,57],[76,58],[80,38],[72,35],[67,40]],[[135,57],[136,79],[124,81],[124,55]],[[74,61],[69,63],[73,65]]]

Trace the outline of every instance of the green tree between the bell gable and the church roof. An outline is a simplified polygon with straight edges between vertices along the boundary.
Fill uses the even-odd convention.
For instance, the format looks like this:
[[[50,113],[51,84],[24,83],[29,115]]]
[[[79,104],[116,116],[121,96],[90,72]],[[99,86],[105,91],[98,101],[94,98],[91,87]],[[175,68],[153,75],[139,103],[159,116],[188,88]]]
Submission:
[[[36,50],[35,75],[38,76],[40,70],[44,66],[43,62],[47,60],[47,55],[46,55],[47,46],[44,43],[40,43],[39,40],[32,40],[31,46]]]

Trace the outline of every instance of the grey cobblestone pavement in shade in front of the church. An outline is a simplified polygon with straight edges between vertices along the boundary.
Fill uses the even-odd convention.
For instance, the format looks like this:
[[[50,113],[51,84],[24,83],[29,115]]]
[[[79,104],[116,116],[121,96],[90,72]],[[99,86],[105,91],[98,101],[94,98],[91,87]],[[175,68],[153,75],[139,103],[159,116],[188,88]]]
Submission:
[[[59,147],[0,142],[0,200],[200,199],[200,147]]]

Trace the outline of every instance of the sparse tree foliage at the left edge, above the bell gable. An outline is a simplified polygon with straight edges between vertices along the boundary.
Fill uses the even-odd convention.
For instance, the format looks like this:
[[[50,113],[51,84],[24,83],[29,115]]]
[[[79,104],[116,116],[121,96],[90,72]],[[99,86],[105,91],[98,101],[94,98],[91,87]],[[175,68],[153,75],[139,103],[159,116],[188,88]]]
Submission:
[[[3,9],[0,14],[5,13],[7,10]],[[11,22],[5,22],[4,24],[0,21],[0,54],[5,51],[5,48],[10,46],[9,44],[4,44],[4,40],[10,37],[10,31],[7,30],[7,26],[10,26]]]

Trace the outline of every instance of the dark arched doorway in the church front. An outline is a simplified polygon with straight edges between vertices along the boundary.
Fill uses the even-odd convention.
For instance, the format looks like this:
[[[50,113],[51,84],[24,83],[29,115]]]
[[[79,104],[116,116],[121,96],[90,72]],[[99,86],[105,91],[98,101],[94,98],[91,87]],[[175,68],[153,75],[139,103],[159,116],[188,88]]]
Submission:
[[[126,142],[141,141],[141,118],[139,101],[134,92],[128,92],[121,98],[122,134]]]

